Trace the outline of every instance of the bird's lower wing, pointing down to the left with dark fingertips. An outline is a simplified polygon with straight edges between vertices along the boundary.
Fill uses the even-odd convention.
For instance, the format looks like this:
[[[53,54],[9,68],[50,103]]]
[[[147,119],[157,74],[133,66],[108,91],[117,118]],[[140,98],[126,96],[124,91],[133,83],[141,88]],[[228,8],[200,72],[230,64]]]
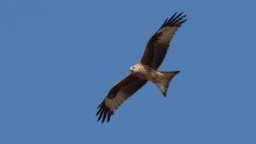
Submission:
[[[114,110],[133,95],[138,89],[142,88],[147,80],[137,78],[130,74],[118,84],[115,84],[112,89],[109,90],[107,97],[100,104],[99,110],[96,116],[99,114],[98,121],[102,118],[102,123],[108,116],[107,121],[113,115]],[[102,117],[103,116],[103,117]]]

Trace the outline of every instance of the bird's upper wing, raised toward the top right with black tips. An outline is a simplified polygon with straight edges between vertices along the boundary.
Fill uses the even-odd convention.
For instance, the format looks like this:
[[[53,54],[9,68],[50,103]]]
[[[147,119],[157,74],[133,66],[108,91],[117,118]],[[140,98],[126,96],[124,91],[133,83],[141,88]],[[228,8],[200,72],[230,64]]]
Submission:
[[[177,28],[180,27],[186,14],[173,14],[170,19],[166,19],[160,29],[151,37],[148,41],[146,49],[143,54],[141,63],[143,65],[151,66],[154,69],[158,69],[162,61],[165,59],[166,52],[169,48],[172,37]]]

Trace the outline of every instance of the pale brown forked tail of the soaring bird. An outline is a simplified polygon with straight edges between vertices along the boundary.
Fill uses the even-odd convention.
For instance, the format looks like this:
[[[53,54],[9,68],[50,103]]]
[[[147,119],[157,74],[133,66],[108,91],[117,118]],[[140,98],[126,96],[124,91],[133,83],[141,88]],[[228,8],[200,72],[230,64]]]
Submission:
[[[169,84],[172,81],[172,78],[177,75],[179,71],[175,72],[160,72],[161,74],[164,75],[164,78],[161,79],[159,83],[154,83],[158,86],[158,88],[161,90],[163,95],[166,96],[167,90],[169,88]]]

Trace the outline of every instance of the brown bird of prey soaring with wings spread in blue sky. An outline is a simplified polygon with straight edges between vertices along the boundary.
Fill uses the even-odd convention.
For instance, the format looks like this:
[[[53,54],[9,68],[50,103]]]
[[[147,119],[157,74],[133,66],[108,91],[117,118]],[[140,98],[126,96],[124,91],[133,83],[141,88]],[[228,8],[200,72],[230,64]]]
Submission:
[[[142,60],[130,67],[131,74],[115,84],[109,90],[108,95],[97,107],[99,108],[96,116],[99,115],[98,121],[102,118],[102,123],[107,118],[109,122],[113,112],[138,89],[142,88],[148,81],[153,82],[166,96],[167,89],[172,78],[179,71],[160,72],[158,68],[166,56],[172,37],[177,29],[182,26],[186,14],[173,14],[170,19],[160,26],[160,29],[149,39]]]

